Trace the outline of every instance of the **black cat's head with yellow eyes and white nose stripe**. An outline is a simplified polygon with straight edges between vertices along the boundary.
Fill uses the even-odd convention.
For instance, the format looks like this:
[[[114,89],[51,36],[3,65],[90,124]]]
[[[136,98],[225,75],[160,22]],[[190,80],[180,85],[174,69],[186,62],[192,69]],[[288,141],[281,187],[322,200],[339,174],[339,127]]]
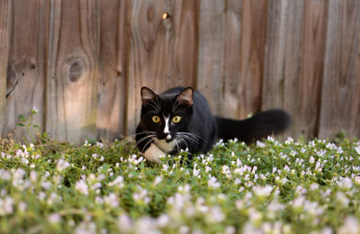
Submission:
[[[152,131],[157,139],[170,142],[177,132],[186,130],[193,113],[193,88],[170,94],[155,94],[148,87],[141,88],[142,130]],[[154,133],[155,132],[155,133]]]

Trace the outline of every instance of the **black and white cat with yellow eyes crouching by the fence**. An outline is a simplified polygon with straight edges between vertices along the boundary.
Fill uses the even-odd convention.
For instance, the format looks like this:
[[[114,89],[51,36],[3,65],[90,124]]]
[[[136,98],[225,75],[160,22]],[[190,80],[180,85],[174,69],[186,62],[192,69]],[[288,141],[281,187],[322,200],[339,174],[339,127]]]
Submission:
[[[163,94],[142,87],[141,100],[136,144],[152,162],[185,148],[192,154],[205,153],[218,139],[250,143],[282,132],[291,121],[282,110],[260,112],[243,121],[214,116],[205,97],[191,87],[175,87]]]

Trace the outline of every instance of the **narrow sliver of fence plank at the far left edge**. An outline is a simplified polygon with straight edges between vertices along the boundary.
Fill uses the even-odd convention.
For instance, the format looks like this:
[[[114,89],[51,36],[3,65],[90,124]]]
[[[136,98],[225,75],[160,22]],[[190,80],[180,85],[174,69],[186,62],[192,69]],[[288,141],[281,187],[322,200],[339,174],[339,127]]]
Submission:
[[[6,124],[6,68],[9,54],[10,1],[0,2],[0,136]]]

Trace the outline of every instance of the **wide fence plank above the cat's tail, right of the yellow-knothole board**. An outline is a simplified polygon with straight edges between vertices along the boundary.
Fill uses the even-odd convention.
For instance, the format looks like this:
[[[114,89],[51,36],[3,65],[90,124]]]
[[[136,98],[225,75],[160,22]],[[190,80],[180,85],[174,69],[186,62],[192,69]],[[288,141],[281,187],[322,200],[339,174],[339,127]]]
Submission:
[[[246,118],[261,107],[266,1],[202,1],[198,89],[216,114]]]

